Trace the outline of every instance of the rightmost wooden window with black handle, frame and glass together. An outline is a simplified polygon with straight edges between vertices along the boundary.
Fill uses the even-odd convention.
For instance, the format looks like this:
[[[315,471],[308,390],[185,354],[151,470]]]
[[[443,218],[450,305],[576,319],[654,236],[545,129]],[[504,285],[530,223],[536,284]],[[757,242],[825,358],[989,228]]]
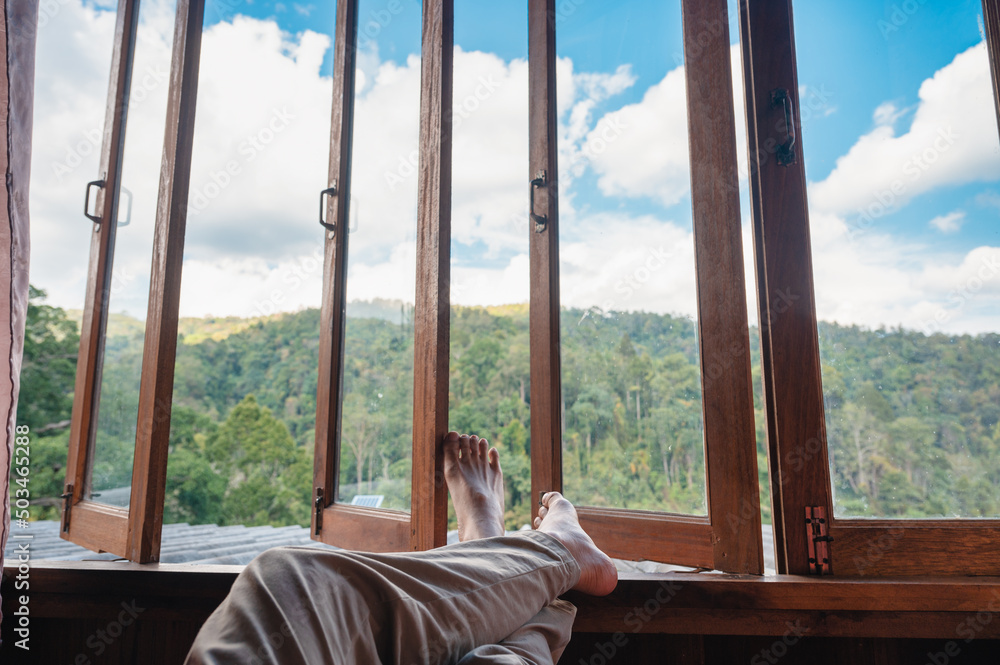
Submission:
[[[885,80],[895,69],[883,66],[879,58],[870,58],[871,70],[867,76],[885,77],[880,79],[884,98],[865,110],[874,111],[876,129],[865,135],[865,140],[859,139],[849,151],[843,150],[844,156],[836,162],[836,172],[841,177],[853,177],[854,186],[836,190],[831,184],[831,174],[810,184],[809,193],[814,198],[810,205],[806,196],[806,157],[810,153],[804,152],[803,138],[809,139],[811,135],[808,132],[805,137],[802,135],[805,115],[802,104],[809,99],[801,93],[803,83],[809,90],[810,85],[820,81],[800,80],[799,71],[804,70],[799,65],[818,61],[812,55],[808,58],[804,55],[807,49],[817,46],[815,35],[809,42],[800,42],[796,50],[790,0],[740,3],[779,573],[996,575],[1000,572],[1000,559],[996,556],[996,543],[1000,540],[996,481],[980,478],[986,501],[972,507],[968,502],[953,501],[953,496],[929,501],[918,487],[921,474],[934,474],[952,488],[949,492],[957,491],[962,477],[974,485],[979,482],[977,477],[984,474],[988,477],[990,465],[995,464],[995,455],[980,457],[977,463],[976,455],[984,454],[983,451],[976,452],[967,446],[974,432],[995,426],[995,423],[984,424],[987,411],[974,407],[973,375],[980,370],[970,370],[970,375],[956,374],[955,364],[946,365],[932,346],[949,346],[953,353],[968,354],[979,347],[995,346],[995,336],[979,339],[963,335],[962,330],[955,328],[963,312],[956,309],[953,301],[944,302],[943,298],[935,301],[931,292],[944,286],[947,297],[948,282],[954,279],[948,277],[949,265],[961,265],[963,256],[972,266],[972,277],[982,280],[975,268],[983,258],[981,255],[990,255],[992,250],[988,245],[972,250],[956,245],[950,248],[952,255],[946,254],[944,234],[957,230],[956,224],[964,212],[949,217],[944,214],[947,210],[934,211],[937,203],[927,198],[921,200],[921,207],[930,214],[910,220],[905,232],[891,230],[894,215],[899,210],[905,213],[911,199],[942,184],[956,186],[954,183],[984,179],[994,182],[1000,173],[997,157],[1000,141],[995,133],[996,123],[990,117],[997,108],[990,88],[996,90],[998,5],[994,0],[982,3],[986,43],[980,37],[975,5],[978,3],[942,9],[944,14],[937,18],[938,10],[930,6],[914,5],[915,9],[904,11],[901,7],[907,6],[893,5],[891,10],[885,10],[887,15],[875,17],[877,20],[868,20],[871,15],[842,15],[837,21],[822,21],[824,33],[831,34],[833,41],[843,44],[843,48],[847,48],[849,36],[874,44],[877,53],[888,52],[897,58],[894,60],[897,63],[921,60],[910,56],[916,56],[917,51],[922,54],[925,45],[935,41],[934,30],[957,29],[958,23],[948,27],[948,22],[961,19],[960,28],[969,44],[968,50],[963,47],[957,56],[951,53],[921,77],[928,80],[920,88],[914,116],[908,119],[907,110],[892,102],[898,95],[915,97],[920,81],[912,84],[909,91],[900,90],[892,81]],[[881,14],[882,8],[877,11]],[[812,19],[816,20],[816,16]],[[892,40],[898,40],[909,30],[924,37],[918,40],[919,44],[910,45],[910,56],[906,56],[897,52],[899,42]],[[837,36],[838,32],[842,38]],[[837,60],[837,55],[828,50],[822,54],[824,60],[831,57]],[[946,92],[953,84],[954,95]],[[838,100],[838,105],[843,104],[843,99]],[[881,105],[875,109],[876,104]],[[822,108],[812,108],[811,104],[809,108],[814,117],[817,112],[822,115]],[[949,109],[956,111],[951,113]],[[904,119],[900,121],[900,117]],[[897,124],[905,127],[907,122],[912,123],[910,130],[896,131]],[[928,131],[921,138],[924,130]],[[972,143],[948,154],[952,145],[957,145],[955,137],[963,133],[968,134],[966,139]],[[828,143],[830,134],[827,125],[822,135],[812,136],[817,137],[819,144],[820,140]],[[880,138],[877,142],[876,137]],[[973,167],[975,175],[971,180],[932,168],[935,162],[940,162],[949,165],[940,168],[951,174],[956,172],[956,166],[957,172],[961,172],[963,162],[975,161],[969,154],[978,154],[983,146],[985,161]],[[898,158],[896,161],[894,156]],[[956,162],[956,158],[962,162]],[[871,171],[873,177],[858,175],[866,162],[875,165]],[[816,166],[815,162],[810,165]],[[836,196],[836,191],[848,195],[847,198]],[[870,197],[865,200],[869,192]],[[968,194],[965,200],[974,200],[973,194]],[[970,209],[969,214],[971,217],[974,211]],[[995,220],[995,210],[990,219],[991,223]],[[935,233],[935,228],[940,233],[929,236],[928,230]],[[822,246],[813,245],[811,235],[813,239],[818,236],[817,243]],[[888,242],[892,237],[903,240],[893,244]],[[903,267],[896,264],[897,270],[890,281],[881,279],[878,261],[840,261],[837,275],[831,275],[827,266],[827,258],[837,255],[841,246],[853,248],[853,253],[844,253],[848,258],[882,246],[905,254],[907,260],[919,265],[926,260],[926,256],[916,251],[921,244],[931,247],[925,253],[941,253],[929,264],[933,265],[935,275],[923,281],[909,280],[905,264]],[[960,257],[957,262],[956,255]],[[862,270],[865,272],[861,273]],[[850,283],[857,282],[859,273],[868,277],[860,289],[851,291]],[[834,282],[849,282],[837,284],[839,299],[831,295]],[[981,287],[982,281],[978,284]],[[838,305],[841,308],[836,311],[848,323],[854,322],[843,313],[846,311],[843,305],[853,302],[861,308],[866,302],[876,302],[871,295],[890,286],[898,297],[893,298],[894,309],[889,315],[898,318],[880,320],[888,330],[878,328],[878,323],[869,324],[874,329],[871,332],[863,327],[834,323],[817,327],[817,319],[832,318],[831,308]],[[929,303],[920,304],[923,319],[919,315],[914,319],[905,309],[912,295],[906,291],[907,287]],[[820,308],[825,311],[818,316]],[[886,316],[884,309],[873,309]],[[992,314],[987,320],[996,325],[995,311],[984,310],[982,314]],[[921,320],[926,325],[920,325]],[[900,323],[903,325],[892,327]],[[866,334],[870,341],[860,345],[857,339]],[[852,353],[867,360],[852,364],[849,362]],[[922,364],[919,376],[909,371],[910,362]],[[884,379],[881,379],[883,368]],[[954,385],[946,390],[949,393],[946,397],[939,382],[951,379]],[[883,387],[890,389],[900,381],[903,386],[900,390],[883,393]],[[951,406],[946,408],[947,404]],[[968,432],[961,427],[963,422]],[[853,432],[855,453],[847,459],[844,459],[845,445],[835,441],[845,432]],[[989,432],[982,436],[988,439]],[[977,440],[983,439],[977,437]],[[961,460],[968,464],[959,464]],[[849,464],[857,466],[854,472],[845,471],[844,465]],[[859,473],[867,475],[859,479]],[[845,482],[845,477],[853,482]],[[884,482],[879,483],[880,479]],[[881,496],[869,491],[876,485],[883,488]],[[915,512],[907,510],[907,502],[911,502],[912,508],[919,507],[926,517],[903,519],[907,513]]]

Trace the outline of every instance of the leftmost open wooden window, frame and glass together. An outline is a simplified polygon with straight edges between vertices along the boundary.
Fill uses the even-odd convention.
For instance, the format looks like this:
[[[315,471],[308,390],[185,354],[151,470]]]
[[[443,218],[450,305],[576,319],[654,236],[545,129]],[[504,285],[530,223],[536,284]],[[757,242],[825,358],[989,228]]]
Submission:
[[[97,197],[85,211],[94,234],[62,528],[64,538],[143,563],[159,556],[204,2],[162,11],[138,0],[118,6],[101,174],[87,192],[88,207]],[[157,22],[174,24],[172,43],[143,35]],[[170,78],[156,86],[149,72],[159,70]],[[148,168],[161,149],[162,162]],[[138,279],[122,277],[129,273]],[[105,344],[122,302],[146,309],[141,357]]]

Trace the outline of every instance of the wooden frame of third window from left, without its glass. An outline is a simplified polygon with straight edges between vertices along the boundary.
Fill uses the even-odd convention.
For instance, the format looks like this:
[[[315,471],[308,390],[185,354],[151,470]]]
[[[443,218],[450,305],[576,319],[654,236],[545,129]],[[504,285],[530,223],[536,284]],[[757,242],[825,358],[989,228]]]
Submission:
[[[763,574],[727,14],[725,0],[683,2],[690,154],[697,155],[691,159],[691,197],[708,516],[587,506],[577,511],[611,556]],[[529,178],[545,171],[548,183],[535,204],[547,224],[541,232],[533,224],[528,230],[536,496],[562,489],[556,16],[555,0],[529,0]],[[713,380],[711,370],[723,359],[727,380]]]

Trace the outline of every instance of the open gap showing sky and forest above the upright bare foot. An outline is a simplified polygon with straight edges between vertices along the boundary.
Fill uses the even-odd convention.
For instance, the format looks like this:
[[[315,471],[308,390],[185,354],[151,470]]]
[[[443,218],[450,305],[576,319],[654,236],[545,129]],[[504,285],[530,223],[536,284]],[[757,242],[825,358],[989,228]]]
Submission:
[[[508,529],[532,505],[527,22],[524,3],[455,7],[449,421],[500,452]]]

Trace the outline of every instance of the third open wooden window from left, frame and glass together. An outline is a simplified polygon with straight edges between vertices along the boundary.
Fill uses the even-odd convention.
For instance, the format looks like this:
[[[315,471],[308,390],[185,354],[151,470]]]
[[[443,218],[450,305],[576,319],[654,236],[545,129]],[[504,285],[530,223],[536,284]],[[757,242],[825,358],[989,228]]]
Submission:
[[[757,466],[754,439],[753,397],[750,380],[750,350],[748,341],[746,300],[743,278],[743,258],[740,238],[739,187],[736,166],[735,117],[732,102],[732,77],[730,71],[729,24],[726,3],[722,0],[712,2],[683,2],[676,6],[669,5],[664,12],[675,12],[682,9],[683,36],[678,39],[676,60],[669,62],[668,74],[663,83],[657,86],[662,92],[667,87],[676,88],[679,104],[672,108],[672,115],[656,117],[656,122],[645,124],[621,118],[621,125],[627,129],[615,126],[598,127],[590,134],[593,145],[588,146],[593,153],[601,154],[603,146],[597,143],[603,141],[611,144],[622,132],[631,136],[633,144],[641,141],[643,132],[656,136],[654,130],[659,123],[676,122],[675,116],[683,118],[686,115],[689,147],[674,145],[649,145],[648,150],[658,155],[670,154],[674,162],[690,164],[691,203],[693,208],[693,257],[694,275],[690,279],[692,290],[690,308],[697,323],[691,319],[679,317],[678,326],[690,328],[689,338],[692,342],[692,358],[661,359],[657,367],[638,368],[636,370],[635,386],[624,385],[627,404],[612,402],[610,409],[620,409],[621,414],[605,415],[607,421],[615,420],[623,429],[632,427],[635,432],[624,436],[641,437],[644,432],[649,436],[648,428],[644,429],[641,422],[644,415],[651,411],[649,397],[655,393],[650,385],[655,376],[669,386],[671,381],[688,381],[691,383],[691,395],[686,399],[692,403],[688,416],[692,420],[701,419],[704,436],[695,437],[693,442],[694,455],[700,455],[704,450],[704,500],[695,498],[694,503],[703,506],[700,510],[692,507],[682,509],[679,514],[667,509],[635,510],[628,509],[616,503],[612,498],[601,507],[591,507],[586,504],[592,497],[580,494],[578,485],[584,480],[586,471],[579,465],[572,466],[575,476],[572,480],[564,480],[568,460],[564,455],[569,451],[584,445],[582,441],[567,442],[566,419],[590,417],[599,422],[599,413],[604,405],[597,404],[600,397],[594,400],[586,399],[586,386],[582,375],[588,372],[601,373],[608,371],[605,367],[573,367],[567,368],[565,357],[561,357],[560,342],[567,339],[566,335],[595,334],[606,335],[599,328],[608,328],[613,339],[608,342],[609,350],[615,347],[628,346],[631,342],[627,335],[627,326],[622,325],[615,332],[615,322],[627,317],[627,310],[641,309],[629,303],[620,302],[616,306],[612,300],[580,304],[570,303],[581,311],[574,312],[573,321],[560,321],[562,316],[560,301],[566,299],[566,294],[574,294],[576,285],[567,285],[569,277],[582,280],[588,279],[590,273],[599,273],[607,266],[596,260],[600,252],[590,252],[594,261],[589,267],[583,264],[560,265],[560,243],[563,252],[568,243],[575,245],[574,259],[580,255],[581,244],[591,248],[610,242],[612,238],[621,241],[623,231],[614,226],[614,216],[595,215],[591,225],[587,227],[580,222],[580,216],[575,215],[571,223],[577,226],[567,226],[566,220],[560,220],[558,194],[565,191],[568,182],[576,175],[571,149],[560,150],[557,145],[559,132],[558,110],[556,99],[556,77],[559,65],[557,63],[556,37],[557,31],[565,26],[563,32],[569,36],[570,42],[581,42],[581,35],[591,40],[598,33],[614,30],[604,22],[612,17],[602,14],[608,8],[575,7],[573,12],[567,12],[565,6],[550,0],[533,0],[530,6],[530,103],[531,103],[531,157],[529,180],[532,189],[533,208],[531,211],[531,414],[532,414],[532,488],[535,495],[546,491],[559,489],[577,503],[581,521],[592,534],[598,546],[612,556],[628,559],[651,559],[668,561],[680,565],[719,569],[728,572],[757,573],[763,572],[760,508],[757,490]],[[621,17],[628,14],[627,7],[616,6],[613,14]],[[638,10],[637,10],[638,11]],[[590,14],[589,16],[587,16]],[[662,17],[655,17],[660,20]],[[677,24],[679,16],[671,16],[669,20]],[[633,21],[629,25],[641,23],[649,25],[649,17],[641,21]],[[587,22],[591,23],[588,25]],[[596,22],[596,23],[595,23]],[[604,23],[602,23],[604,22]],[[600,29],[594,26],[601,24]],[[617,25],[612,21],[611,25]],[[581,27],[582,26],[582,27]],[[669,25],[654,28],[654,31],[667,31]],[[681,32],[678,30],[677,32]],[[626,35],[626,39],[635,39],[635,35]],[[622,39],[616,34],[608,43],[617,43]],[[588,41],[588,48],[600,49],[600,44]],[[667,56],[668,47],[662,40],[652,39],[656,45],[657,57]],[[682,46],[683,45],[683,46]],[[613,49],[611,49],[613,51]],[[685,80],[677,79],[679,61],[683,60]],[[607,69],[607,68],[606,68]],[[614,68],[610,68],[614,71]],[[563,71],[564,75],[569,74]],[[618,70],[619,76],[627,76],[627,72]],[[599,78],[599,77],[598,77]],[[611,82],[607,85],[613,86]],[[565,86],[561,89],[570,89]],[[686,89],[686,103],[684,90]],[[647,95],[649,97],[650,95]],[[599,101],[599,100],[598,100]],[[568,104],[564,101],[564,104]],[[585,111],[585,109],[578,109]],[[685,114],[686,111],[686,114]],[[662,126],[662,125],[660,125]],[[603,133],[602,133],[603,132]],[[654,139],[655,142],[655,139]],[[678,150],[679,148],[679,150]],[[687,150],[685,150],[687,148]],[[678,156],[678,152],[687,152],[690,159]],[[560,155],[560,153],[562,153]],[[559,157],[563,162],[559,163]],[[681,167],[683,174],[684,168]],[[604,177],[608,176],[605,172]],[[612,180],[615,175],[612,175]],[[626,182],[628,175],[623,175],[619,182],[602,182],[598,187],[608,191],[618,190],[629,192],[630,185]],[[663,183],[669,189],[670,183]],[[595,188],[596,189],[596,188]],[[683,187],[682,187],[683,189]],[[667,198],[671,203],[683,199],[683,194],[669,192]],[[582,205],[589,205],[588,199]],[[577,202],[577,205],[581,204]],[[560,227],[562,223],[562,227]],[[642,225],[633,225],[641,227]],[[656,239],[662,242],[663,228],[653,229],[646,237],[625,238],[637,247],[639,259],[631,269],[639,268],[645,271],[641,282],[656,281],[662,277],[650,275],[651,269],[645,265],[649,251],[656,250]],[[657,235],[660,234],[660,235]],[[649,246],[650,243],[652,246]],[[676,269],[676,264],[684,260],[673,257],[654,257],[659,266],[670,265],[668,270]],[[569,265],[575,270],[572,275],[560,276],[560,269],[565,273]],[[562,280],[562,284],[560,284]],[[611,284],[614,282],[612,280]],[[694,286],[696,285],[696,286]],[[617,310],[617,311],[616,311]],[[588,317],[590,320],[588,321]],[[580,319],[578,322],[577,319]],[[594,331],[583,331],[586,327]],[[561,330],[562,329],[562,330]],[[623,335],[623,333],[625,333]],[[562,335],[562,340],[560,336]],[[563,347],[566,348],[565,346]],[[695,348],[697,351],[695,351]],[[628,349],[626,349],[627,351]],[[670,376],[671,360],[677,372]],[[570,374],[567,374],[570,372]],[[626,372],[627,373],[627,372]],[[682,377],[681,374],[684,376]],[[722,380],[722,378],[724,380]],[[572,388],[567,387],[567,381],[574,382]],[[626,382],[628,379],[626,379]],[[567,390],[571,399],[567,399]],[[661,391],[662,392],[662,391]],[[700,404],[699,401],[700,394]],[[645,411],[642,400],[647,400]],[[661,399],[663,403],[654,403],[660,408],[669,401],[685,399],[684,395],[659,395],[654,400]],[[570,403],[573,402],[573,403]],[[591,407],[588,409],[588,406]],[[568,415],[567,415],[568,414]],[[587,416],[589,414],[589,416]],[[633,419],[634,414],[634,419]],[[664,414],[669,419],[669,414]],[[684,418],[684,414],[673,414]],[[628,421],[633,422],[629,423]],[[619,422],[620,421],[620,422]],[[681,429],[680,422],[674,423]],[[577,428],[579,429],[579,428]],[[577,432],[579,434],[579,432]],[[590,431],[583,436],[590,442]],[[664,432],[666,434],[666,432]],[[651,443],[651,442],[650,442]],[[657,446],[664,446],[657,442]],[[604,465],[607,469],[622,470],[621,475],[629,477],[621,482],[648,483],[641,478],[642,470],[636,470],[648,464],[642,458],[642,453],[651,445],[638,447],[636,459],[614,459]],[[647,451],[648,452],[648,451]],[[659,454],[659,448],[654,453]],[[666,454],[663,452],[662,454]],[[659,466],[659,462],[653,462]],[[653,471],[655,475],[656,471]],[[611,481],[609,484],[614,484]],[[700,492],[699,483],[697,490]],[[616,487],[607,487],[607,495],[614,496]]]

